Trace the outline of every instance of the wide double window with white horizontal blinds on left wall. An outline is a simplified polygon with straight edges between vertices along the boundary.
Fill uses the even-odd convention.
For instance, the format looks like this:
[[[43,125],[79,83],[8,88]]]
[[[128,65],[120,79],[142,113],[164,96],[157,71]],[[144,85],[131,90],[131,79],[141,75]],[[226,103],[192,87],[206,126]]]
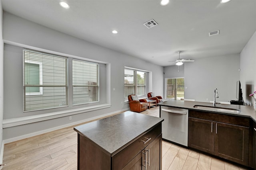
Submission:
[[[98,63],[30,49],[23,50],[23,58],[24,111],[99,101]],[[70,69],[68,61],[72,61]],[[68,86],[68,75],[72,86]],[[68,102],[68,92],[72,102]]]

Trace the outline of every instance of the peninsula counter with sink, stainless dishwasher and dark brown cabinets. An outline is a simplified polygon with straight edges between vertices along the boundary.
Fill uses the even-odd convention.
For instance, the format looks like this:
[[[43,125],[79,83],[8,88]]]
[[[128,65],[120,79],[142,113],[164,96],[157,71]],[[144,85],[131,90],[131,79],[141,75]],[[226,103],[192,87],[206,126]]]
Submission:
[[[160,117],[164,117],[163,139],[167,141],[178,138],[174,133],[169,133],[172,127],[175,129],[179,123],[170,117],[180,117],[184,115],[176,114],[181,111],[176,109],[187,109],[186,119],[188,119],[180,131],[188,134],[189,149],[218,156],[238,164],[256,168],[256,140],[255,123],[256,111],[252,106],[226,105],[212,103],[167,100],[160,102]],[[172,115],[172,116],[170,116]],[[174,123],[173,123],[174,122]],[[168,123],[168,125],[165,125]],[[171,123],[174,124],[170,125]],[[165,129],[165,130],[164,130]],[[175,141],[174,141],[175,143]],[[179,143],[178,143],[179,144]]]

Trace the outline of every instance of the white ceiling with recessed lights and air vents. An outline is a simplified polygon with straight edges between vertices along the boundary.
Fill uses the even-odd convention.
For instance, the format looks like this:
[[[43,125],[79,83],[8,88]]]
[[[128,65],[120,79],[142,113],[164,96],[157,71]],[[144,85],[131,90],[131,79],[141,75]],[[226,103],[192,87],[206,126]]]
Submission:
[[[2,0],[3,10],[161,66],[237,54],[256,31],[256,0]],[[154,19],[158,25],[143,25]],[[118,34],[112,34],[112,30]],[[220,30],[219,35],[208,36]]]

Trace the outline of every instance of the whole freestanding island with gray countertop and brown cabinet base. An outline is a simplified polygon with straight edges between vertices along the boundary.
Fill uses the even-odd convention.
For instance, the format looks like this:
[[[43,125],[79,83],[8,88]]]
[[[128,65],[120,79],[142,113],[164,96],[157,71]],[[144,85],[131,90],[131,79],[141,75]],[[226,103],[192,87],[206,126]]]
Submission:
[[[162,121],[127,111],[74,127],[78,170],[161,170]]]

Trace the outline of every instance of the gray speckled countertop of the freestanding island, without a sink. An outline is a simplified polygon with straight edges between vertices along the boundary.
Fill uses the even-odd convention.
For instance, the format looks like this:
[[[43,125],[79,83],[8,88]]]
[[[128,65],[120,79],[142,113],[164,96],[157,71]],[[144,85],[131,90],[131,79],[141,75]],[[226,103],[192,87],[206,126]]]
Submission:
[[[74,130],[114,156],[162,121],[163,118],[126,111],[74,127]]]

